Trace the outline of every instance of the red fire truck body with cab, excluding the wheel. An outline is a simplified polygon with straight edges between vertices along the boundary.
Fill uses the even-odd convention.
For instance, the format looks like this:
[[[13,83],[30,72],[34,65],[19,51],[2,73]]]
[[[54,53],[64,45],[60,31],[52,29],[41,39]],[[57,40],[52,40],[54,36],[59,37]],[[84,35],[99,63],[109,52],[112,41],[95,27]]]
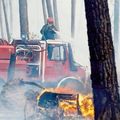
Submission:
[[[70,43],[61,40],[13,40],[11,45],[0,45],[1,79],[7,79],[13,53],[16,54],[14,79],[58,85],[69,79],[86,83],[86,67],[74,62]]]

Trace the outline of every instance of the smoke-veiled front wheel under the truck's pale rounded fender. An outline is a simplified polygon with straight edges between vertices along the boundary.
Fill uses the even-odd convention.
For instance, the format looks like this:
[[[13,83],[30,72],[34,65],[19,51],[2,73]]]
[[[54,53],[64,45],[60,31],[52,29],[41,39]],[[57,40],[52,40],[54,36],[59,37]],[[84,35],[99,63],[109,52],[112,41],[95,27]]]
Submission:
[[[85,93],[83,82],[74,77],[67,77],[62,79],[57,85],[57,88],[59,87],[65,89],[71,89],[75,92]]]

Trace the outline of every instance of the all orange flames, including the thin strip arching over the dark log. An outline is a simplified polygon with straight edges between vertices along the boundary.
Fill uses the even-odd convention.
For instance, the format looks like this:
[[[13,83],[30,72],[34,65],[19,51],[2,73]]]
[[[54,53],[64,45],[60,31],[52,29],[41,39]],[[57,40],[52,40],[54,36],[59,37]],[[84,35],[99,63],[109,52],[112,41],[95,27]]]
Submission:
[[[94,120],[94,106],[91,94],[82,95],[71,91],[70,89],[64,88],[45,89],[42,93],[45,91],[51,91],[53,93],[73,94],[74,99],[59,100],[59,107],[64,111],[64,115],[76,116],[80,113],[80,115],[82,115],[84,118]]]

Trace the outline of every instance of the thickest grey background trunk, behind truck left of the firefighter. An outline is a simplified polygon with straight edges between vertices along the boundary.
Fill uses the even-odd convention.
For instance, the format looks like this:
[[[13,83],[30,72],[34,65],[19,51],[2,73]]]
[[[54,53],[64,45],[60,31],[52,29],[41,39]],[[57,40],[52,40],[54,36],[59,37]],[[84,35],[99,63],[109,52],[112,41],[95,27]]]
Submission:
[[[29,37],[27,0],[19,0],[19,15],[21,38],[26,40]]]

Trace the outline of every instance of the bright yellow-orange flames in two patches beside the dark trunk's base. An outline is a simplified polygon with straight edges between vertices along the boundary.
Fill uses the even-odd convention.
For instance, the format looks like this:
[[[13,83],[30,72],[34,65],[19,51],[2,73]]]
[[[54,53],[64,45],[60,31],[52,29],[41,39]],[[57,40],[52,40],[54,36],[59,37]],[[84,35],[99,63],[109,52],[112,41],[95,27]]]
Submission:
[[[79,109],[83,117],[89,118],[90,120],[94,119],[94,107],[91,95],[85,96],[79,94],[78,104],[77,97],[76,100],[62,100],[59,103],[59,107],[63,109],[65,116],[76,115]]]

